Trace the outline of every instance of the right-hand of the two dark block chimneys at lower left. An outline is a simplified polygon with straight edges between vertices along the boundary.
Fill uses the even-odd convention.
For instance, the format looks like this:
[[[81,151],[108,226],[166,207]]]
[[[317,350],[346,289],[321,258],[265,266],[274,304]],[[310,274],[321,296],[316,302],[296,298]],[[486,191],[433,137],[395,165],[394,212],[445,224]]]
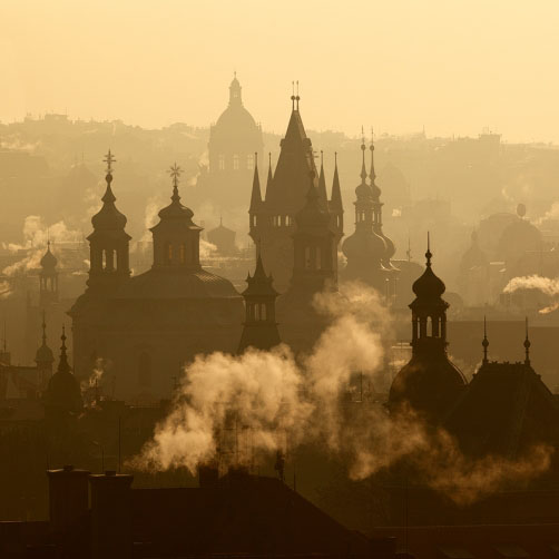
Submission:
[[[89,477],[91,559],[129,559],[133,552],[130,486],[134,475],[114,470]]]

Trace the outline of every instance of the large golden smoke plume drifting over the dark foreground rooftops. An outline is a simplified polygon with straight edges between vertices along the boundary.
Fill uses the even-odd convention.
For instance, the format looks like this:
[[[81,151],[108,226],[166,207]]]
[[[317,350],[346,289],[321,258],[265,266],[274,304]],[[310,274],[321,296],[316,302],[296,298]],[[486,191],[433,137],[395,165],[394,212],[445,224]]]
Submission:
[[[549,468],[551,450],[543,447],[516,461],[469,460],[451,435],[411,410],[390,416],[382,405],[361,403],[347,413],[343,395],[352,374],[361,372],[373,385],[386,374],[382,337],[391,327],[390,313],[375,292],[359,285],[344,297],[322,294],[315,303],[331,324],[301,361],[285,346],[198,356],[185,370],[173,411],[129,465],[186,467],[194,473],[217,459],[223,429],[235,418],[251,432],[251,460],[284,451],[285,441],[290,449],[320,441],[349,461],[353,480],[362,480],[405,459],[426,484],[458,503]]]

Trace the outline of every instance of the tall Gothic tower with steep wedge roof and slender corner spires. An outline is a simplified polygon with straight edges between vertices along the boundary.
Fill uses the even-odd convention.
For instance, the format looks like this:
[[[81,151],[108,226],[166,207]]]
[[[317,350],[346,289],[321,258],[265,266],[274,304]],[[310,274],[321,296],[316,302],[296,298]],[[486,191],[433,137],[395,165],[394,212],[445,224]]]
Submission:
[[[254,186],[256,177],[253,180],[249,235],[261,246],[264,265],[273,274],[277,288],[283,292],[290,285],[293,271],[295,216],[306,204],[311,173],[318,206],[327,216],[336,246],[343,235],[343,207],[339,179],[337,186],[334,180],[333,198],[328,200],[323,167],[318,177],[311,139],[306,136],[301,118],[298,95],[292,96],[290,122],[280,145],[280,158],[274,174],[268,171],[264,199],[262,193],[258,199]]]

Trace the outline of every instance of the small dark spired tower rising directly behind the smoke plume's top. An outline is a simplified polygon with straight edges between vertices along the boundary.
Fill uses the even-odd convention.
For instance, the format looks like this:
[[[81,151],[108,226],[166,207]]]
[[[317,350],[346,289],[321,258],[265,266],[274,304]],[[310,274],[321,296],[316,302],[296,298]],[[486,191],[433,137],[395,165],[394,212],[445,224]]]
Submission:
[[[259,254],[254,275],[248,274],[246,283],[248,286],[243,292],[246,315],[237,350],[239,354],[247,347],[267,351],[282,343],[275,314],[278,294],[272,285],[272,276],[264,272]]]

